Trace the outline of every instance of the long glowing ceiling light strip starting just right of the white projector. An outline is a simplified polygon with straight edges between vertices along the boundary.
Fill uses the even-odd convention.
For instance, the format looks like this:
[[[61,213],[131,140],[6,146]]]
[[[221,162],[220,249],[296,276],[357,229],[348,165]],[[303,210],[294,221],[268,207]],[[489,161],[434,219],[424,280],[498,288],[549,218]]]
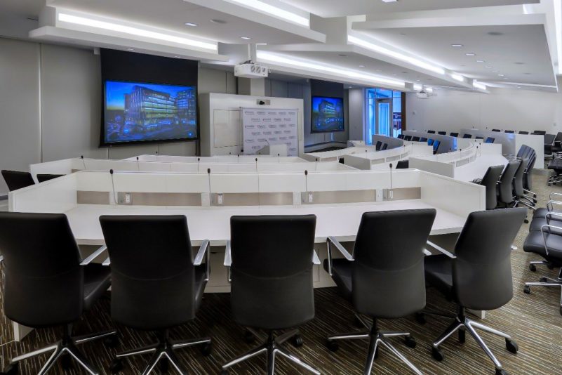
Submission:
[[[392,86],[404,87],[406,84],[403,81],[396,81],[394,79],[386,79],[383,77],[373,76],[371,74],[365,74],[363,72],[354,72],[353,70],[346,70],[342,67],[329,67],[326,65],[315,64],[314,62],[306,62],[302,60],[293,60],[291,58],[284,58],[280,55],[274,55],[273,53],[268,53],[264,51],[257,51],[257,58],[259,60],[276,62],[282,65],[289,65],[292,67],[300,67],[308,70],[319,70],[321,72],[327,72],[330,74],[335,74],[338,77],[347,77],[351,79],[359,79],[361,81],[370,81],[377,84],[389,84]]]

